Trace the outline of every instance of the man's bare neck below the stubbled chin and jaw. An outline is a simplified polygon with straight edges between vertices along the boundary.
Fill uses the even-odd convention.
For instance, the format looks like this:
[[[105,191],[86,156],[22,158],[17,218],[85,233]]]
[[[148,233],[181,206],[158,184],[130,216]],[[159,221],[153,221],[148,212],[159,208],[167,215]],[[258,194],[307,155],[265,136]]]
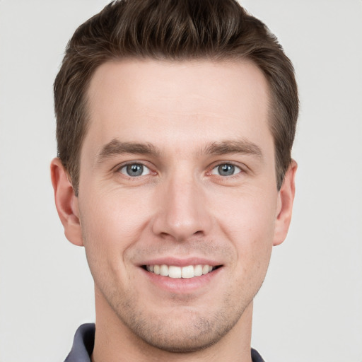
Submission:
[[[119,320],[102,293],[95,290],[95,344],[92,362],[252,362],[250,356],[252,303],[216,344],[199,351],[169,352],[146,343]]]

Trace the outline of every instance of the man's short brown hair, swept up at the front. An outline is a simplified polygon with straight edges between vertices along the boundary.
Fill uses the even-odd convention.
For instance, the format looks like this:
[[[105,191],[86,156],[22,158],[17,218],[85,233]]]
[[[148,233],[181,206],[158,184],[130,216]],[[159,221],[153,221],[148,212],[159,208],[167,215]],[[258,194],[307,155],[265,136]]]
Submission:
[[[264,23],[235,0],[117,0],[79,26],[54,82],[58,157],[76,195],[89,82],[100,64],[126,57],[254,62],[269,83],[280,189],[291,163],[298,90],[291,61]]]

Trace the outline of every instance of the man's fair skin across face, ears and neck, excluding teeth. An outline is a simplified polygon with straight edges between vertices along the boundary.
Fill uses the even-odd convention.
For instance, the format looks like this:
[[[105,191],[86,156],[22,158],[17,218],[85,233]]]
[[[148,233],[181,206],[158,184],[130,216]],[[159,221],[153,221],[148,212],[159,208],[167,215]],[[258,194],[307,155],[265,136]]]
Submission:
[[[293,161],[278,191],[268,100],[250,62],[95,71],[78,197],[52,161],[66,238],[95,281],[93,361],[251,361],[252,300],[286,238],[296,172]],[[127,175],[135,163],[144,173]],[[142,267],[158,262],[218,269],[170,279]]]

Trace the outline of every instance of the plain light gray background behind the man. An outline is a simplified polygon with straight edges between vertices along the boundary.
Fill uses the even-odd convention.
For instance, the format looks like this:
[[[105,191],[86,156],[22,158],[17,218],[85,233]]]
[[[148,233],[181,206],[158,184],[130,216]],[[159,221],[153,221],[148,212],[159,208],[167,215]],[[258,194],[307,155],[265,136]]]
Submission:
[[[52,82],[76,26],[104,0],[0,1],[0,361],[63,361],[94,320],[82,248],[52,197]],[[362,361],[362,2],[247,0],[296,67],[297,194],[255,300],[271,362]]]

